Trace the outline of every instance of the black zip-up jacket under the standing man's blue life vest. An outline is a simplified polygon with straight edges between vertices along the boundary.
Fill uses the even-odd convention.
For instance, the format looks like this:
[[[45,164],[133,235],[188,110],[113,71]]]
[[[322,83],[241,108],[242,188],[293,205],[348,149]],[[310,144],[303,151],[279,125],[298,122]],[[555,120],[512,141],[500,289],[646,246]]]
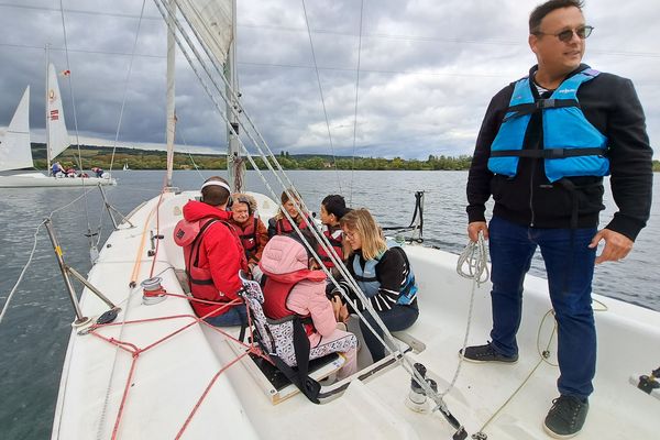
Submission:
[[[529,72],[530,78],[537,66]],[[582,64],[572,76],[585,68]],[[474,148],[468,178],[468,218],[485,221],[485,204],[495,200],[493,216],[536,228],[570,228],[573,200],[559,184],[550,184],[540,158],[519,160],[515,177],[494,175],[488,169],[491,144],[499,131],[515,82],[502,89],[486,110]],[[532,94],[539,95],[532,86]],[[652,155],[646,132],[644,110],[629,79],[601,73],[578,90],[578,100],[586,119],[608,139],[610,186],[618,212],[607,229],[631,240],[646,226],[651,207]],[[525,134],[525,150],[542,148],[541,113],[534,113]],[[603,206],[602,177],[570,177],[578,191],[578,228],[598,224]],[[594,185],[595,184],[595,185]]]

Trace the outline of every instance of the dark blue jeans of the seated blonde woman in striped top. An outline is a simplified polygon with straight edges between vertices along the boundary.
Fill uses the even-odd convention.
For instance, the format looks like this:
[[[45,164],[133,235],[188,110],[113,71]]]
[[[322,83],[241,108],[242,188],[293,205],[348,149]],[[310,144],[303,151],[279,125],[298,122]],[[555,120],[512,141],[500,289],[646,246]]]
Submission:
[[[408,327],[413,326],[415,321],[417,321],[417,318],[419,317],[419,307],[417,306],[417,300],[415,300],[410,306],[402,306],[397,304],[392,309],[387,311],[377,311],[377,314],[389,331],[402,331],[406,330]],[[378,333],[378,336],[383,338],[381,327],[376,324],[371,314],[364,310],[363,316]],[[364,342],[366,343],[374,362],[378,362],[385,358],[385,348],[374,336],[374,333],[372,333],[369,327],[366,327],[363,320],[360,320],[360,330],[362,330]]]

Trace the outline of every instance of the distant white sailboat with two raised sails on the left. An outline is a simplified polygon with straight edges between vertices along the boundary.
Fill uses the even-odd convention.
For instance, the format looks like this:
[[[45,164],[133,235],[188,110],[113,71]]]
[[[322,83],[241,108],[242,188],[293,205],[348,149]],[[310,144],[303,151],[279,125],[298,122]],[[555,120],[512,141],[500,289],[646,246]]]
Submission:
[[[7,131],[6,141],[0,147],[0,170],[14,170],[34,167],[30,146],[30,87],[16,108]],[[69,146],[68,131],[64,119],[62,96],[57,84],[57,74],[53,63],[48,64],[46,75],[46,155],[47,170],[57,155]],[[42,173],[22,173],[0,176],[0,187],[72,187],[90,185],[117,185],[111,177],[50,177]]]

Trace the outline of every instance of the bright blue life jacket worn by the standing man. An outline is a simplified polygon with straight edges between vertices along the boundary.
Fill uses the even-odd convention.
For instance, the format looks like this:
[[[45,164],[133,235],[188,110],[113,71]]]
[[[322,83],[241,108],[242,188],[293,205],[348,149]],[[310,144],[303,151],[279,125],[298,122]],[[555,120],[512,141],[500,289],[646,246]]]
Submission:
[[[578,101],[580,86],[597,75],[597,70],[582,70],[565,79],[549,99],[537,101],[529,77],[518,80],[491,145],[488,169],[513,177],[520,157],[540,157],[551,183],[570,176],[608,175],[609,160],[603,156],[607,138],[586,120]],[[524,150],[527,127],[536,111],[542,112],[543,150]]]

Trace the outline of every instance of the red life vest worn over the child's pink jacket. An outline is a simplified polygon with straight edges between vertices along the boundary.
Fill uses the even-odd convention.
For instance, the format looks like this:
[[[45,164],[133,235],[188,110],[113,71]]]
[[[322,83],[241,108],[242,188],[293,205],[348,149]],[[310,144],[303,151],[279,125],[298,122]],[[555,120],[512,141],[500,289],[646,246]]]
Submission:
[[[298,315],[295,311],[286,307],[286,301],[296,284],[304,279],[322,283],[326,280],[326,274],[321,271],[296,271],[287,274],[285,279],[275,279],[277,275],[265,274],[266,282],[264,284],[264,315],[271,319],[283,319],[293,315]],[[310,336],[316,332],[311,316],[301,316],[302,324],[305,326],[305,332]]]

